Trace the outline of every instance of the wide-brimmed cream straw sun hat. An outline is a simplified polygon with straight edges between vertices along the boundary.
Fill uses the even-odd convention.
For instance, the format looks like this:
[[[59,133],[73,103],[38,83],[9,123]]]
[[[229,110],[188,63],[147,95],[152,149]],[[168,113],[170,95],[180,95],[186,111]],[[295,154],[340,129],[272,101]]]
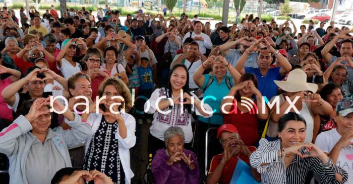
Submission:
[[[307,74],[302,69],[295,69],[289,72],[287,80],[274,80],[276,85],[284,91],[296,93],[299,91],[311,91],[316,93],[318,85],[309,83],[307,81]]]

